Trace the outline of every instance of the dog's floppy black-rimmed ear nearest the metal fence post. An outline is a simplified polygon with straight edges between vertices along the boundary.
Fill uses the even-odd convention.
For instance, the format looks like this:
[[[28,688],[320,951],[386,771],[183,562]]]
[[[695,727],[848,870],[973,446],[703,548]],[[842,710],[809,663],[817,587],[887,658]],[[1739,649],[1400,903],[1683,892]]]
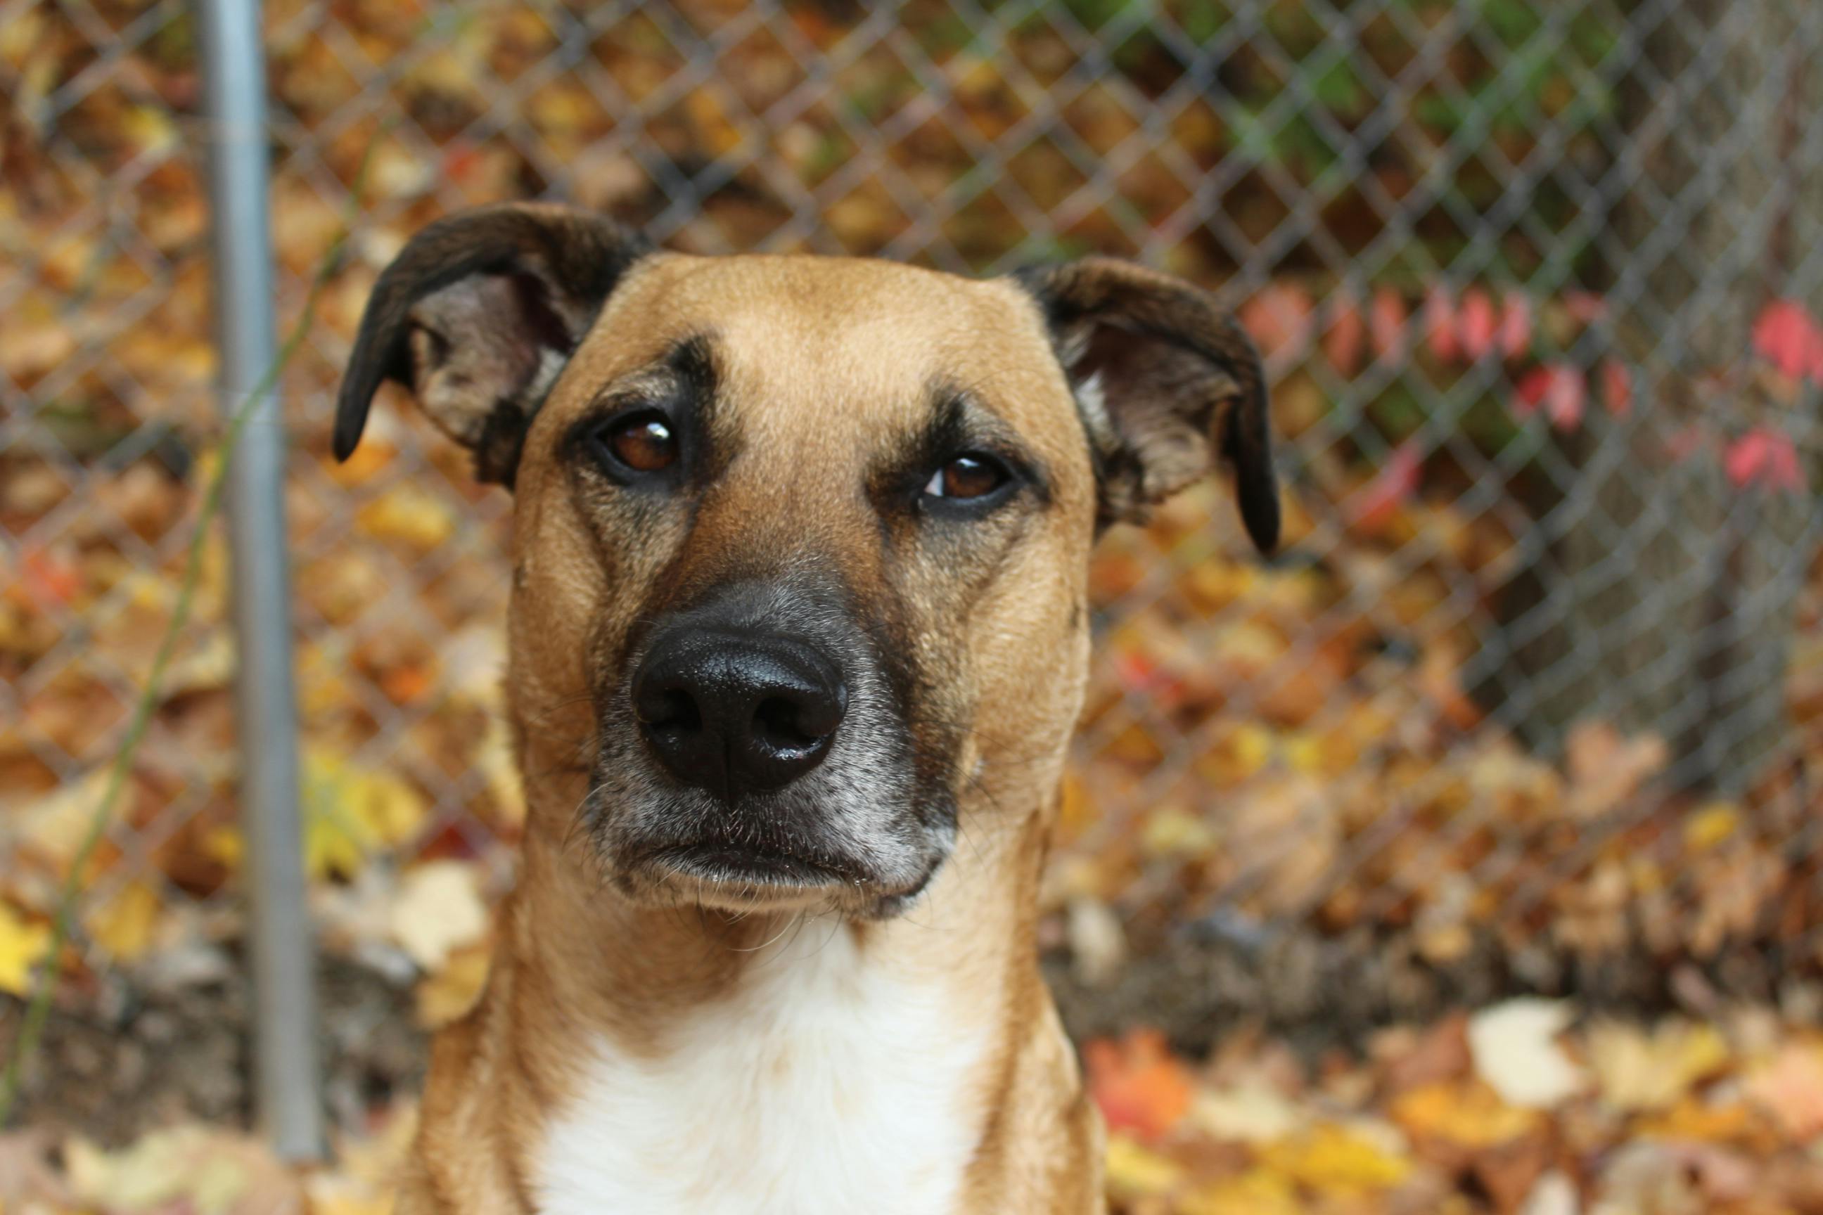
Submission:
[[[354,454],[374,393],[396,379],[474,452],[476,475],[510,486],[527,423],[614,282],[649,251],[602,215],[552,204],[430,224],[366,301],[335,403],[335,457]]]

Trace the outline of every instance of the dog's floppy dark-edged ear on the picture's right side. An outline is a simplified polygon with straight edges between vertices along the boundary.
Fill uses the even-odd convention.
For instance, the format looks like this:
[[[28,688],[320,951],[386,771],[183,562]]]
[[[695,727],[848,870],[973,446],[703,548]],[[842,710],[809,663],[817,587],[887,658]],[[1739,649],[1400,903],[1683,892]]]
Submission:
[[[1278,545],[1265,368],[1207,291],[1145,266],[1085,257],[1015,275],[1037,299],[1083,410],[1101,523],[1138,519],[1214,468],[1260,552]]]

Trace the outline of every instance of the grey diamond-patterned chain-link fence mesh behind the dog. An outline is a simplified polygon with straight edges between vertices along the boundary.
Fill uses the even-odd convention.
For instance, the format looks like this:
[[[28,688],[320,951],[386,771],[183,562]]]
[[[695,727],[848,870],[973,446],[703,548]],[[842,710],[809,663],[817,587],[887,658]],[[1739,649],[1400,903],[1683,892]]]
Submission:
[[[1128,962],[1059,969],[1085,1020],[1132,1011],[1096,995],[1123,984],[1192,1020],[1380,1016],[1681,967],[1763,996],[1823,962],[1823,7],[284,0],[266,36],[281,324],[361,182],[283,377],[326,949],[374,949],[374,873],[510,882],[510,497],[403,397],[348,465],[328,423],[401,242],[549,197],[704,253],[1130,255],[1262,344],[1283,554],[1203,486],[1096,556],[1046,914],[1068,956],[1074,913],[1112,907]],[[197,80],[182,4],[0,5],[16,931],[71,863],[221,432]],[[222,585],[211,548],[66,1004],[235,934],[259,741]]]

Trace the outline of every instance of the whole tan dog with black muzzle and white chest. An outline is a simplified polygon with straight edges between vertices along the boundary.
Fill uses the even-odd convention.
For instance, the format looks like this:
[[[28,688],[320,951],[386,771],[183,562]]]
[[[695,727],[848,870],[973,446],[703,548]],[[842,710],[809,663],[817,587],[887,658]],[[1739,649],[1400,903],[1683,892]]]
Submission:
[[[1276,541],[1234,321],[505,206],[381,275],[337,455],[388,377],[516,486],[530,807],[401,1213],[1099,1210],[1039,869],[1097,530],[1221,455]]]

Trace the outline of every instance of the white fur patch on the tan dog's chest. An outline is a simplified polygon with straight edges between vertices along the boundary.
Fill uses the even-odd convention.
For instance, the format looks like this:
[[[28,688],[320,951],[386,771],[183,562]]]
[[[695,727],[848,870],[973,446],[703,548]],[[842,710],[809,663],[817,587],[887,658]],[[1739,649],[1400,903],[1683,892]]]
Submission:
[[[545,1215],[939,1215],[981,1133],[981,1026],[808,925],[662,1058],[603,1049],[554,1122]]]

